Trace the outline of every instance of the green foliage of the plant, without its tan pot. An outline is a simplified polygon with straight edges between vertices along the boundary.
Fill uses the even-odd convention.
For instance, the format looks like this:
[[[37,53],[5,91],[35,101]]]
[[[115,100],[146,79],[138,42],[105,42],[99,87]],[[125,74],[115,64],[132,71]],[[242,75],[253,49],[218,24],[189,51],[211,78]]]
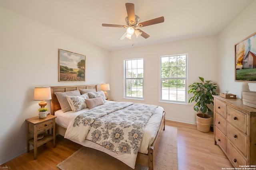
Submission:
[[[213,97],[212,95],[216,95],[214,92],[214,89],[217,88],[216,84],[212,83],[212,81],[204,81],[204,78],[199,77],[201,80],[200,83],[196,82],[188,87],[192,87],[190,90],[188,90],[188,94],[193,93],[194,96],[192,96],[188,102],[195,101],[196,104],[194,106],[195,111],[201,111],[203,113],[206,113],[207,111],[212,111],[207,105],[213,104]]]

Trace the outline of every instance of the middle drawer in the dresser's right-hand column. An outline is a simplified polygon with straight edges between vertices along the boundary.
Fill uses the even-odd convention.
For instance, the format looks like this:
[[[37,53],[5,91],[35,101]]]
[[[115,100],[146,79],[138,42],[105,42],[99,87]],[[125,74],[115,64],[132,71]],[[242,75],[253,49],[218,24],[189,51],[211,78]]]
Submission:
[[[227,123],[227,138],[246,156],[246,135]]]

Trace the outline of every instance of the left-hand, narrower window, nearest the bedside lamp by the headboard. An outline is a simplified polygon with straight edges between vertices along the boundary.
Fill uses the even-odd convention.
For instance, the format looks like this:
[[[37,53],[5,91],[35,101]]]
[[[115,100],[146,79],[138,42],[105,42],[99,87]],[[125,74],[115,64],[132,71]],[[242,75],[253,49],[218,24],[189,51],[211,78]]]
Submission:
[[[143,59],[124,61],[124,97],[143,99]]]

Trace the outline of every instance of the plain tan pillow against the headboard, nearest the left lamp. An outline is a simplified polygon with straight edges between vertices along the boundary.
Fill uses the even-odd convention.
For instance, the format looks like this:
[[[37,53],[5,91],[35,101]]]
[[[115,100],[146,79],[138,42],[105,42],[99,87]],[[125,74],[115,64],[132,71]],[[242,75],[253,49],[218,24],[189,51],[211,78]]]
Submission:
[[[81,95],[79,90],[69,91],[69,92],[55,92],[54,93],[60,103],[60,107],[63,112],[72,110],[68,104],[66,96],[79,96]]]

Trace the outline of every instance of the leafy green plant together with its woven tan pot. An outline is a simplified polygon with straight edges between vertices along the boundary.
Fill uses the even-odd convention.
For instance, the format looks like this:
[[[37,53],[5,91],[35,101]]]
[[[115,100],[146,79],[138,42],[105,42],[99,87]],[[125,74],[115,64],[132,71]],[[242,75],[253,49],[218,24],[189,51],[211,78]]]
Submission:
[[[213,104],[212,95],[216,95],[214,89],[217,88],[216,84],[212,83],[212,81],[204,81],[204,78],[199,77],[201,82],[196,82],[188,87],[191,87],[188,90],[188,94],[193,93],[188,103],[195,101],[194,110],[197,112],[196,114],[196,124],[198,131],[208,132],[210,131],[212,117],[206,112],[212,112],[212,110],[208,107],[208,105]]]

